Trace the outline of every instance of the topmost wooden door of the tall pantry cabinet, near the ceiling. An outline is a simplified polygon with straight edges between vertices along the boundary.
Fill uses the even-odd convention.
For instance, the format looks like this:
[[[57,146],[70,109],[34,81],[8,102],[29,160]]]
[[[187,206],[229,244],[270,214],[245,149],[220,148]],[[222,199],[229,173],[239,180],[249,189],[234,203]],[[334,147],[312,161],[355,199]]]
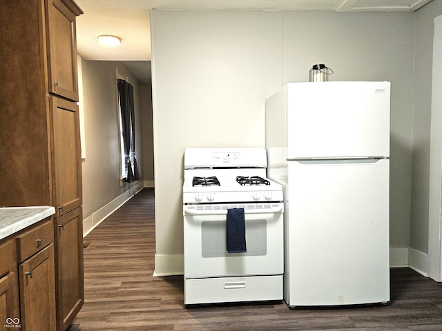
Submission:
[[[75,14],[64,2],[46,0],[49,91],[78,101]]]

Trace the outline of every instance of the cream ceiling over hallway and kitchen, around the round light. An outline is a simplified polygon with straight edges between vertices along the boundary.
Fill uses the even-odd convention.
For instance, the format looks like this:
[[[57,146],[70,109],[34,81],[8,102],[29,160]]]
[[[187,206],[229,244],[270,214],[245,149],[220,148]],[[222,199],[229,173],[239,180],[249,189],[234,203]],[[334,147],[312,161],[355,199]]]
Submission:
[[[142,83],[151,81],[149,10],[332,10],[336,12],[416,11],[432,0],[75,0],[77,50],[86,60],[124,61]],[[122,39],[101,46],[100,34]]]

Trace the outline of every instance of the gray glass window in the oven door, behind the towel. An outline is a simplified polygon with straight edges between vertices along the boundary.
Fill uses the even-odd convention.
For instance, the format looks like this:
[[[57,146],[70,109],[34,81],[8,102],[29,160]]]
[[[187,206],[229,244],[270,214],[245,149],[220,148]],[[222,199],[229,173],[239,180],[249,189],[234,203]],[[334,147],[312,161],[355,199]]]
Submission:
[[[263,256],[267,254],[267,221],[246,221],[246,253],[228,253],[226,248],[226,221],[201,223],[201,254],[203,258]]]

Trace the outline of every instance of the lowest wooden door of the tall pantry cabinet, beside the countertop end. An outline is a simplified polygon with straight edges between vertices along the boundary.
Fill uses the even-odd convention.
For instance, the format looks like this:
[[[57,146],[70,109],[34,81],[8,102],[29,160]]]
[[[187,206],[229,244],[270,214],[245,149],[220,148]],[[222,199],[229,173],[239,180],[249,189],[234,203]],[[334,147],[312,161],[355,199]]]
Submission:
[[[66,330],[84,303],[81,207],[55,222],[57,327]]]

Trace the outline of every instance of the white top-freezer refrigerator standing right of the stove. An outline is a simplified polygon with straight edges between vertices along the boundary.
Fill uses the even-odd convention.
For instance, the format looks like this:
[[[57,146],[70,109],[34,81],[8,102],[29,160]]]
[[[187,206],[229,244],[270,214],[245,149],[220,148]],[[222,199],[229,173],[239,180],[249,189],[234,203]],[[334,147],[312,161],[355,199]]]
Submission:
[[[266,131],[287,305],[390,301],[390,83],[288,83],[267,99]]]

